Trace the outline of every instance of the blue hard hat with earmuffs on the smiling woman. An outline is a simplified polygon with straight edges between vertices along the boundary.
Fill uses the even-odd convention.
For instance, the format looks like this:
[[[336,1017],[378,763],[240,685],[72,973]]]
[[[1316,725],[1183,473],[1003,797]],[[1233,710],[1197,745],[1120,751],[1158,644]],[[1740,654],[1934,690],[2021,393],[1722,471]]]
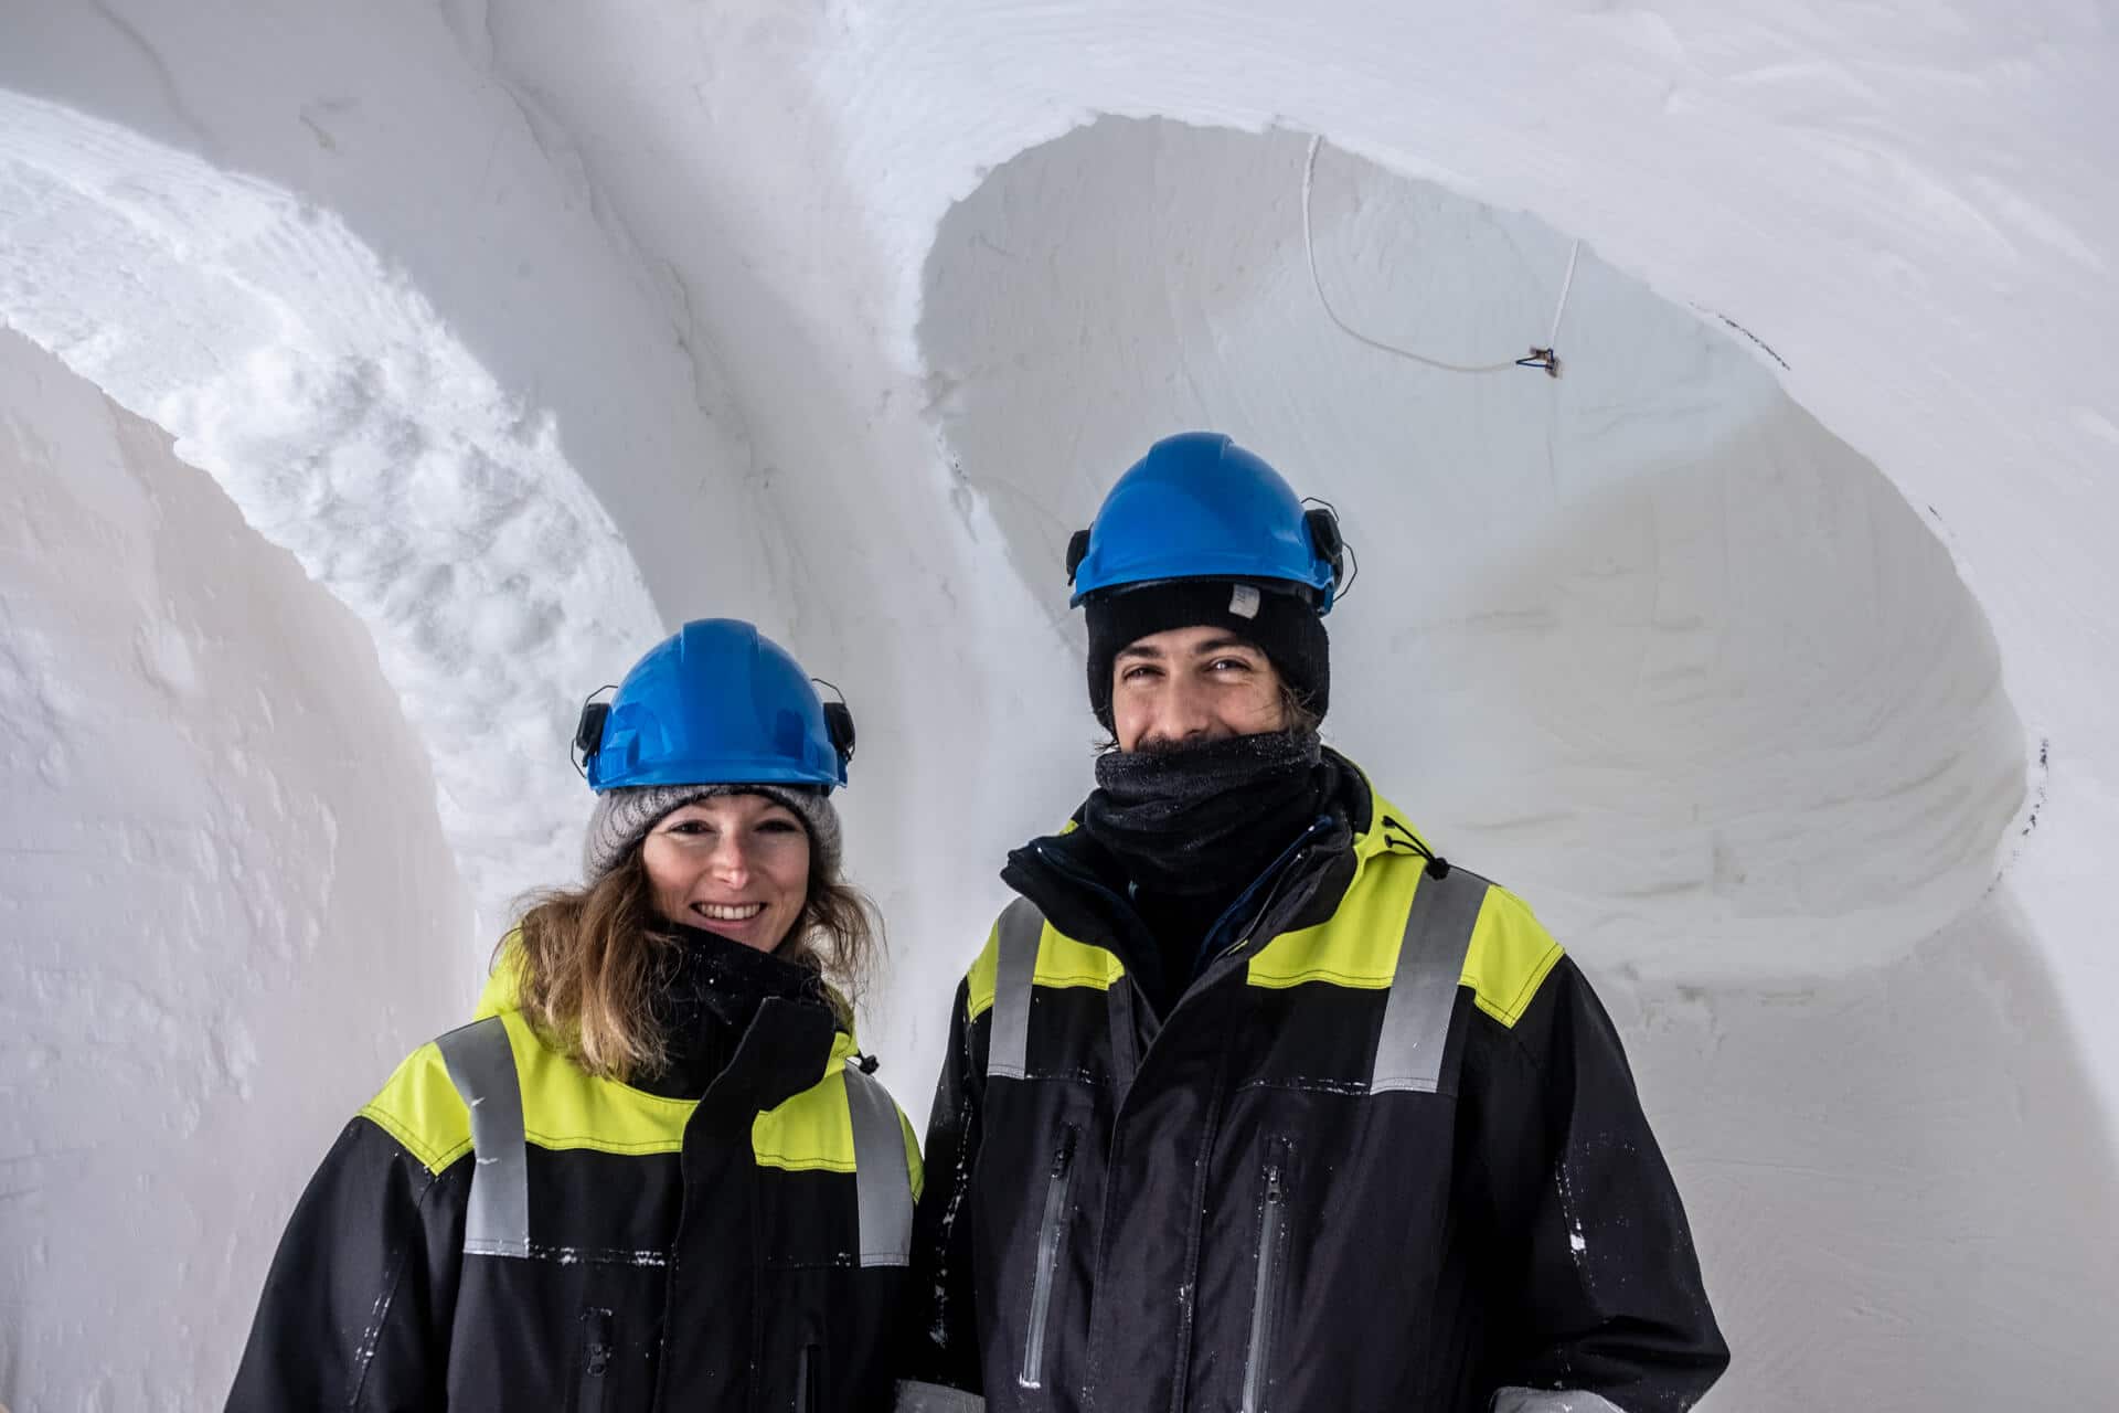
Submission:
[[[634,663],[574,744],[589,788],[845,784],[854,718],[820,701],[786,648],[742,619],[697,619]]]

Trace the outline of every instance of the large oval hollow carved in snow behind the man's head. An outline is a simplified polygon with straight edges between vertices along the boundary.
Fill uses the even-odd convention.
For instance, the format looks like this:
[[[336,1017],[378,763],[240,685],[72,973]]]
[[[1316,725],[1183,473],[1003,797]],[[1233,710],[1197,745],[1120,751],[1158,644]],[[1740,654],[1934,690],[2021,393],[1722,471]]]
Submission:
[[[943,220],[922,347],[966,479],[1066,536],[1180,426],[1333,500],[1335,735],[1604,966],[1903,955],[1994,881],[2024,733],[1922,517],[1765,356],[1521,214],[1305,138],[1102,119]],[[1557,328],[1564,377],[1507,366]],[[1079,631],[1079,629],[1076,629]],[[1394,782],[1394,784],[1392,784]]]

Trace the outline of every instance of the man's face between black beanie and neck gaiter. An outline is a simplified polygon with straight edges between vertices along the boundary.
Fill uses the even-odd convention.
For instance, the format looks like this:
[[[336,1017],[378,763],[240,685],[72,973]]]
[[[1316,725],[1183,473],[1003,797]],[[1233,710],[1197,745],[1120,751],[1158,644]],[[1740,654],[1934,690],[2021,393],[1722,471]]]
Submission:
[[[1110,678],[1119,750],[1170,750],[1288,725],[1274,663],[1221,627],[1148,633],[1119,650]]]

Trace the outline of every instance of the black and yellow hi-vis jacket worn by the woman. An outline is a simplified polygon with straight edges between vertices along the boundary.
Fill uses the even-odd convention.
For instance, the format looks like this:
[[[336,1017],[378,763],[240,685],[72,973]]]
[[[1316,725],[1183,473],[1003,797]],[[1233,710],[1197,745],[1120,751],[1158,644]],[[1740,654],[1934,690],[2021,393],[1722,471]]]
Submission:
[[[587,1074],[496,972],[288,1222],[229,1396],[292,1409],[879,1409],[920,1155],[822,1002],[701,1097]]]

